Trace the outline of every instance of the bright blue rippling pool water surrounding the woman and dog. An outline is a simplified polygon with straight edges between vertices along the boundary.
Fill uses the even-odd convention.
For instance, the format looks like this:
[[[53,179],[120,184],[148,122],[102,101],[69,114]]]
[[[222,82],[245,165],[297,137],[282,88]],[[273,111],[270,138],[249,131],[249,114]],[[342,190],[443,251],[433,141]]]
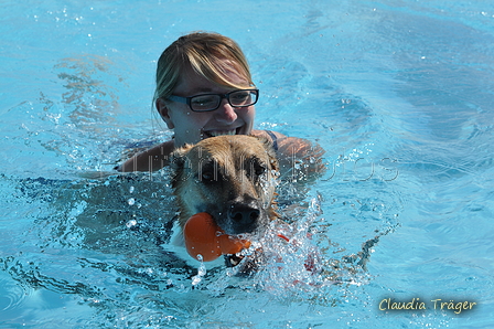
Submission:
[[[0,8],[0,328],[494,325],[491,1]],[[105,173],[170,137],[152,118],[155,60],[194,30],[246,52],[258,128],[326,150],[293,192],[316,276],[301,248],[282,270],[212,268],[193,286],[197,267],[160,244],[167,173]]]

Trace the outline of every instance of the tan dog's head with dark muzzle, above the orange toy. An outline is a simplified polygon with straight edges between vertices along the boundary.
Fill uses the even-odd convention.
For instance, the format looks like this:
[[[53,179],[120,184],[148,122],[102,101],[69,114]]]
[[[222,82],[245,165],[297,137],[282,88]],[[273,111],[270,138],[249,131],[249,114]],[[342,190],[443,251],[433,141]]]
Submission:
[[[180,224],[210,213],[227,234],[255,232],[277,217],[278,162],[269,141],[253,136],[218,136],[176,150],[172,185]]]

